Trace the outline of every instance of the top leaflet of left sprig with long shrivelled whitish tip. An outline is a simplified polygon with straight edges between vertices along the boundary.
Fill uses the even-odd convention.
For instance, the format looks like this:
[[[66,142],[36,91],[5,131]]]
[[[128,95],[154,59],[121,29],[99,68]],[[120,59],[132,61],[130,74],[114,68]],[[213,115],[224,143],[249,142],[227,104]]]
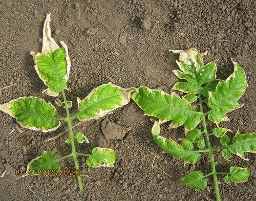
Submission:
[[[30,53],[35,62],[35,70],[48,88],[44,91],[49,96],[57,97],[59,92],[67,90],[67,81],[70,72],[70,58],[68,47],[65,42],[60,41],[63,48],[51,37],[50,14],[47,15],[44,29],[42,31],[41,53]]]

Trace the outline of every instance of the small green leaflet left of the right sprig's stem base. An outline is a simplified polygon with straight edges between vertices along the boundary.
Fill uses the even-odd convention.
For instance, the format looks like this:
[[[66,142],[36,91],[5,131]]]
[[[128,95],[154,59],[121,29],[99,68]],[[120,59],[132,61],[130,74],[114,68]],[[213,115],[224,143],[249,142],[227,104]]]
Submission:
[[[180,183],[188,185],[196,190],[202,190],[207,187],[207,180],[200,171],[190,172],[185,177],[180,178]]]

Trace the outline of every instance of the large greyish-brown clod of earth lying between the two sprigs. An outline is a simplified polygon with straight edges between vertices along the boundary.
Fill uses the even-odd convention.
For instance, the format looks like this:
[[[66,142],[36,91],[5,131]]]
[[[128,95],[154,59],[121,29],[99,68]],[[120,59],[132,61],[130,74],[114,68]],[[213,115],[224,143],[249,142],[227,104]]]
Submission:
[[[112,123],[109,118],[101,122],[101,130],[106,140],[121,140],[125,136],[125,129],[116,123]]]

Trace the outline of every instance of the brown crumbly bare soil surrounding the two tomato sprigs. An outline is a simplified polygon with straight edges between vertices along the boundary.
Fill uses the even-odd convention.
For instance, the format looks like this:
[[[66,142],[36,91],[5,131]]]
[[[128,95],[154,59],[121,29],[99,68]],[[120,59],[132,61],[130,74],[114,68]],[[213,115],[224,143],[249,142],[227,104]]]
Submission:
[[[86,97],[100,84],[114,82],[122,87],[146,85],[170,93],[178,79],[176,55],[169,49],[196,48],[208,51],[205,62],[218,60],[218,78],[225,79],[233,71],[230,58],[245,69],[248,88],[240,102],[244,106],[228,114],[229,122],[221,126],[241,133],[255,131],[255,1],[216,0],[47,0],[0,1],[0,103],[22,96],[42,95],[46,88],[39,80],[30,51],[40,51],[42,26],[46,13],[51,14],[52,36],[68,44],[71,73],[67,97],[73,101]],[[13,85],[14,84],[14,85]],[[58,109],[64,115],[63,108]],[[111,122],[126,129],[122,140],[106,140],[101,122],[104,118],[80,124],[74,131],[83,132],[91,142],[79,144],[83,152],[92,147],[109,147],[116,151],[117,161],[111,168],[88,168],[80,157],[84,191],[79,192],[75,177],[18,177],[14,169],[25,169],[28,162],[44,150],[54,150],[58,157],[70,152],[65,144],[68,133],[46,142],[67,129],[42,133],[17,129],[10,116],[0,113],[0,200],[214,200],[212,181],[202,191],[194,191],[178,180],[192,170],[211,172],[207,155],[195,165],[184,166],[182,160],[161,153],[151,138],[153,123],[139,107],[130,104],[108,115]],[[74,122],[77,123],[77,122]],[[16,126],[16,127],[15,127]],[[212,124],[208,124],[211,128]],[[177,142],[184,128],[168,130],[162,135]],[[13,130],[13,128],[15,128]],[[12,132],[11,132],[12,131]],[[213,139],[214,146],[217,140]],[[217,169],[228,171],[231,165],[251,170],[249,181],[227,185],[220,178],[223,200],[256,199],[256,155],[246,154],[249,161],[233,156],[222,159],[217,152]],[[72,160],[61,162],[73,169]]]

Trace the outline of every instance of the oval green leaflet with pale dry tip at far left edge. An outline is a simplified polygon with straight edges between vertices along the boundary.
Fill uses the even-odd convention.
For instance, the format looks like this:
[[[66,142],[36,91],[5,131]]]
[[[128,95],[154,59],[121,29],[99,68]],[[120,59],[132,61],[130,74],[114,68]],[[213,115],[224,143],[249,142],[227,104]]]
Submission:
[[[21,97],[0,105],[0,110],[14,117],[17,122],[31,130],[48,132],[56,130],[60,122],[51,103],[36,97]]]

